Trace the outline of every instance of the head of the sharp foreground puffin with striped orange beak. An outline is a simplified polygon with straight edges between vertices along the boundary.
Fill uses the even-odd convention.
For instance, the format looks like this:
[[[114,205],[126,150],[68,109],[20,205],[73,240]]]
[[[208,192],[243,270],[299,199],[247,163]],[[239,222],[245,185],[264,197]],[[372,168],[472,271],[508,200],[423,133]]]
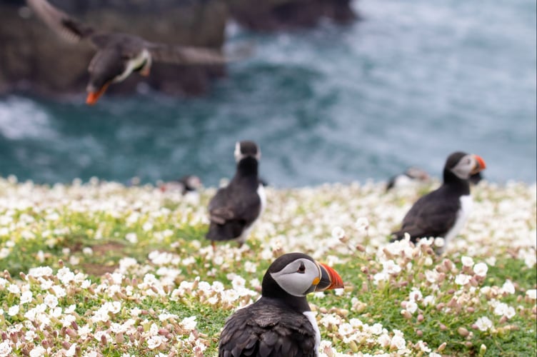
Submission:
[[[343,288],[341,276],[323,263],[303,253],[278,257],[265,273],[262,296],[306,296],[313,291]]]

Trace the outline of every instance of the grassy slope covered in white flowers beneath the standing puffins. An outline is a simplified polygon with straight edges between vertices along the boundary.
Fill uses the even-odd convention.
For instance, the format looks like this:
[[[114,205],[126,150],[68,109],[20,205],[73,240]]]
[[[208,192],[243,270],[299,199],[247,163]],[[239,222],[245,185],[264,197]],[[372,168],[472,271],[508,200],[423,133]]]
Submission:
[[[287,251],[303,251],[330,263],[346,283],[341,294],[309,298],[318,311],[323,340],[331,341],[333,349],[324,350],[328,355],[398,351],[427,355],[429,348],[443,355],[468,356],[483,354],[482,345],[486,346],[487,356],[535,355],[536,301],[526,296],[526,291],[536,288],[537,281],[535,186],[483,184],[474,189],[476,207],[471,221],[445,256],[436,256],[426,245],[386,248],[391,229],[396,228],[418,194],[428,189],[410,188],[385,194],[380,184],[370,183],[290,191],[271,189],[263,221],[256,226],[248,245],[238,249],[234,244],[224,244],[215,254],[204,241],[205,207],[214,190],[204,191],[200,203],[189,203],[174,193],[160,193],[152,187],[124,188],[107,183],[49,188],[0,181],[0,249],[4,249],[0,270],[6,269],[19,278],[20,272],[28,273],[32,267],[50,266],[56,274],[66,266],[75,273],[88,274],[92,283],[91,289],[85,289],[73,281],[62,284],[58,277],[49,277],[66,288],[67,296],[59,298],[63,313],[66,314],[65,308],[75,305],[76,325],[94,326],[90,334],[94,338],[75,333],[65,345],[62,341],[66,327],[60,322],[60,336],[34,323],[30,329],[39,337],[19,343],[19,347],[12,343],[12,352],[28,353],[41,345],[53,353],[62,348],[68,350],[76,343],[80,353],[96,350],[116,356],[151,356],[155,351],[193,354],[197,343],[206,348],[200,353],[214,355],[226,317],[239,305],[255,300],[259,281],[273,257]],[[361,217],[368,218],[367,229],[355,226]],[[336,226],[343,228],[345,238],[332,237]],[[356,249],[357,245],[360,249]],[[164,261],[149,259],[151,251],[171,255]],[[480,278],[471,268],[464,268],[463,256],[472,257],[475,263],[487,262],[486,277]],[[136,263],[124,262],[119,267],[125,257],[134,258]],[[379,273],[382,276],[389,269],[388,261],[400,271],[379,278]],[[120,281],[103,276],[114,271],[123,274]],[[428,281],[426,271],[443,273],[444,278]],[[156,281],[146,283],[147,273],[154,274]],[[461,286],[455,280],[459,274],[473,280]],[[234,281],[234,276],[244,278],[244,284]],[[194,282],[196,277],[209,284],[221,281],[226,291],[240,291],[244,285],[251,295],[226,299],[214,291],[200,292],[198,283],[185,291],[178,289],[181,282]],[[513,282],[514,293],[502,288],[507,280]],[[36,279],[26,277],[24,281],[14,280],[13,284],[21,286],[22,291],[26,286],[33,292],[29,303],[22,303],[21,294],[9,290],[9,282],[0,285],[0,308],[4,311],[0,331],[12,328],[19,341],[29,329],[24,327],[24,313],[43,303],[47,293]],[[115,286],[114,292],[107,290],[110,286]],[[418,299],[416,311],[405,313],[410,293],[416,289],[423,298],[431,296],[434,301],[424,303]],[[210,296],[217,296],[216,302],[209,302]],[[91,316],[106,301],[120,301],[121,311],[109,313],[109,322],[92,323]],[[503,318],[494,313],[493,305],[498,302],[514,308],[515,315]],[[14,305],[20,311],[11,316],[9,308]],[[122,334],[112,331],[110,323],[126,323],[134,316],[134,308],[142,311],[134,318],[136,326],[142,326],[138,334],[135,330]],[[176,318],[161,321],[159,314],[163,311],[175,314]],[[196,316],[194,330],[181,323],[189,316]],[[476,328],[475,323],[482,316],[490,318],[493,328]],[[168,343],[157,348],[151,348],[148,342],[153,323],[157,330],[164,328],[171,333],[167,335]],[[375,323],[380,323],[385,331],[373,331]],[[351,331],[342,330],[345,324],[351,326]],[[96,338],[99,331],[108,333],[108,338]],[[161,331],[161,335],[166,336],[166,331]],[[404,337],[404,348],[396,346],[393,336],[398,335],[397,331]],[[381,336],[388,336],[388,342],[382,341]],[[424,341],[428,347],[421,348],[418,341]],[[444,342],[446,346],[442,348]]]

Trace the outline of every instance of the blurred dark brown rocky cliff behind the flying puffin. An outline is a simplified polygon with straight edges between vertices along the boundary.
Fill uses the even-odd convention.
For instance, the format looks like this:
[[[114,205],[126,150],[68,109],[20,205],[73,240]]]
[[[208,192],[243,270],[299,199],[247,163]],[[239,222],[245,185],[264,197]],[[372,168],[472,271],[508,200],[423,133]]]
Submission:
[[[49,0],[77,19],[106,31],[150,41],[221,48],[231,16],[256,30],[313,26],[324,16],[350,21],[350,0]],[[84,93],[88,43],[69,44],[56,36],[23,0],[0,0],[0,94],[23,91],[51,98]],[[127,94],[143,81],[172,95],[203,94],[222,66],[154,64],[151,76],[129,76],[108,92]]]

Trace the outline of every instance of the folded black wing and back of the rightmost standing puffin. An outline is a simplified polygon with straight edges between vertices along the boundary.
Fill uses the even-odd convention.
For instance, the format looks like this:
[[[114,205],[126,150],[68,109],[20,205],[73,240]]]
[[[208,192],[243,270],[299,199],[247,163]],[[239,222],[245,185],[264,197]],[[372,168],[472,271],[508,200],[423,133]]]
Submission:
[[[456,221],[461,203],[458,199],[448,199],[446,190],[438,190],[426,194],[414,203],[403,218],[399,231],[392,234],[401,239],[404,233],[411,236],[411,241],[423,237],[442,237]]]

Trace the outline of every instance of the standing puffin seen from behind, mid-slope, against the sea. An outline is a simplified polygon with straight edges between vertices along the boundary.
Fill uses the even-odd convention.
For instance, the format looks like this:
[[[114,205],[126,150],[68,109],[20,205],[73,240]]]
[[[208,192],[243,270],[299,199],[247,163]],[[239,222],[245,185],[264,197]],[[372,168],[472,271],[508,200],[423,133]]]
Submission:
[[[258,174],[261,149],[254,141],[238,141],[234,155],[235,176],[209,201],[206,238],[213,248],[215,241],[233,240],[242,246],[266,206],[265,190]]]

